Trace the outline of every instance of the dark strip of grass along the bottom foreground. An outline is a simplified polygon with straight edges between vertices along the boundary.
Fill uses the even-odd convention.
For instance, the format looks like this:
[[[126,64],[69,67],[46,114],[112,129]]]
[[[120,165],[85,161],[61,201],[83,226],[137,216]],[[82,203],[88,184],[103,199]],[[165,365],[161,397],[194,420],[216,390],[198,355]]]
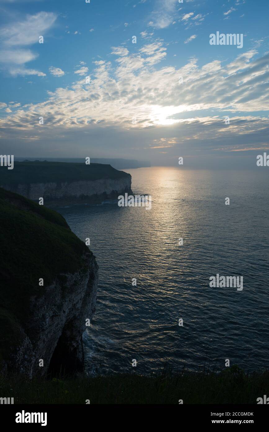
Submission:
[[[219,374],[159,372],[27,381],[0,377],[0,395],[14,403],[84,404],[256,404],[269,394],[269,372],[245,374],[236,365]]]

